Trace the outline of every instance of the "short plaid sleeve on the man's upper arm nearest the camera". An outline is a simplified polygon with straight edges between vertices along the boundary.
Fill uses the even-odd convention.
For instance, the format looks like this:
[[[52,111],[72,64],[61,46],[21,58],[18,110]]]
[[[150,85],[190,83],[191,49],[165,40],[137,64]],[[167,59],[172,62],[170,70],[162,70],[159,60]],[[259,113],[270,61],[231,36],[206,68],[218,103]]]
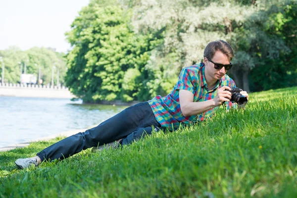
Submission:
[[[174,90],[188,90],[195,95],[195,72],[190,68],[183,68]]]

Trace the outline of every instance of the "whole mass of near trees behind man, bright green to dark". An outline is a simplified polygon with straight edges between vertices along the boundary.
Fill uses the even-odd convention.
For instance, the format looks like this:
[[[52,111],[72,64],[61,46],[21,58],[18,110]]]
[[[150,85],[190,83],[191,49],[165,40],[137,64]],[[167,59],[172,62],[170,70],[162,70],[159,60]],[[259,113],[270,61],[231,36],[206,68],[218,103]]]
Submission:
[[[218,39],[233,47],[228,74],[244,90],[297,83],[296,0],[108,2],[91,0],[66,34],[66,83],[85,101],[164,96]]]

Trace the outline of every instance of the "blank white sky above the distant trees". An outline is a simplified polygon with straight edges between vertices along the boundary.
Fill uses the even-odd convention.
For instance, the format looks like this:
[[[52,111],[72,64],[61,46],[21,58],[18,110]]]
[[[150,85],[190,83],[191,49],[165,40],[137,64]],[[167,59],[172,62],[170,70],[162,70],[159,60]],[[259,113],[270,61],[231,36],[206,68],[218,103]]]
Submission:
[[[65,32],[89,0],[0,0],[0,50],[16,46],[67,52]]]

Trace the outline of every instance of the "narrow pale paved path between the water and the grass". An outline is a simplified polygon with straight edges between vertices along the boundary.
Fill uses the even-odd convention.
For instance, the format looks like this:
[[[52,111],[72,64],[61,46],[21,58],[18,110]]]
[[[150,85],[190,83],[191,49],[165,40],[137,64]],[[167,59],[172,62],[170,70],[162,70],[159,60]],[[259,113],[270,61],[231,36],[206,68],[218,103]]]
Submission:
[[[95,125],[95,126],[97,126],[97,125]],[[95,126],[92,126],[90,128],[93,128]],[[56,137],[59,137],[59,136],[69,137],[69,136],[74,135],[74,134],[77,134],[79,132],[84,132],[84,131],[86,131],[87,129],[90,129],[90,128],[76,129],[76,130],[66,131],[66,132],[54,134],[54,135],[51,135],[51,136],[48,136],[48,137],[39,138],[39,139],[33,140],[31,142],[47,141],[47,140],[50,140],[50,139],[53,139],[53,138],[56,138]],[[2,148],[0,148],[0,152],[1,151],[11,150],[11,149],[14,149],[14,148],[23,148],[23,147],[27,147],[29,145],[30,145],[30,142],[28,142],[28,143],[20,143],[20,144],[16,144],[16,145],[11,145],[11,146],[8,146],[8,147],[2,147]]]

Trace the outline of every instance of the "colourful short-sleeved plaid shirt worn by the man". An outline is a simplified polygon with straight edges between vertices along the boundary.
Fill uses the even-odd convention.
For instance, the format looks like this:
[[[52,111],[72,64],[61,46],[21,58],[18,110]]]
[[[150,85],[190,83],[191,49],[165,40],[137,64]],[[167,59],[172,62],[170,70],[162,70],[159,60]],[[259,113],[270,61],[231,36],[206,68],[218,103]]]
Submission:
[[[182,69],[178,82],[174,86],[170,94],[165,97],[156,96],[148,100],[150,107],[156,117],[156,120],[162,127],[169,128],[170,130],[177,129],[180,124],[191,124],[193,122],[203,121],[204,119],[211,118],[219,106],[211,108],[201,114],[183,116],[179,102],[179,90],[188,90],[194,95],[194,102],[201,102],[209,99],[214,99],[217,94],[218,88],[226,85],[235,87],[235,82],[228,76],[224,75],[213,89],[208,90],[204,76],[204,63],[192,65]],[[232,102],[225,102],[226,109],[229,110],[231,106],[236,106]]]

